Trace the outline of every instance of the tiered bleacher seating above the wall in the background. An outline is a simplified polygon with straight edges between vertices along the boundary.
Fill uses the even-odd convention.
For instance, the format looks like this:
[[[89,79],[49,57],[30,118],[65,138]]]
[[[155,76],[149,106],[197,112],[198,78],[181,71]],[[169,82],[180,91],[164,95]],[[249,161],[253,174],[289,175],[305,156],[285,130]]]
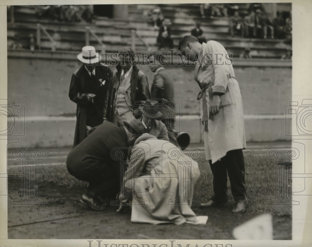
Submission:
[[[153,26],[151,15],[159,10],[164,19],[170,20],[175,48],[179,39],[189,35],[199,22],[203,36],[221,42],[233,57],[239,57],[248,48],[252,58],[280,59],[291,50],[291,30],[286,30],[286,23],[291,22],[290,3],[224,5],[8,6],[7,45],[8,50],[80,51],[82,46],[90,44],[105,52],[117,52],[125,45],[136,52],[155,51],[158,49],[158,29]],[[229,25],[235,11],[243,24],[246,16],[258,10],[270,15],[275,36],[231,35]],[[279,36],[279,27],[275,25],[277,15],[282,16],[285,26],[280,27],[284,34]],[[261,25],[263,28],[266,23]]]

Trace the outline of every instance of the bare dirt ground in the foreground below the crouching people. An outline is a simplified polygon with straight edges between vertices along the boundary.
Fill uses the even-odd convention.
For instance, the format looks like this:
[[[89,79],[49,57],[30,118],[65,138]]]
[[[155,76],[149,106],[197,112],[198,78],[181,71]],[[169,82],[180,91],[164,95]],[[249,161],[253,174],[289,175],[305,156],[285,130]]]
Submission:
[[[14,182],[15,181],[15,182]],[[9,180],[9,188],[18,190],[20,183]],[[218,208],[201,209],[208,215],[206,225],[149,225],[130,222],[130,210],[116,213],[116,206],[106,211],[91,211],[78,202],[83,186],[66,187],[54,182],[38,184],[38,198],[46,206],[17,206],[19,196],[8,196],[8,238],[10,239],[233,239],[235,226],[258,215],[247,208],[244,214],[232,214],[229,203]],[[274,216],[274,239],[291,239],[290,216]]]

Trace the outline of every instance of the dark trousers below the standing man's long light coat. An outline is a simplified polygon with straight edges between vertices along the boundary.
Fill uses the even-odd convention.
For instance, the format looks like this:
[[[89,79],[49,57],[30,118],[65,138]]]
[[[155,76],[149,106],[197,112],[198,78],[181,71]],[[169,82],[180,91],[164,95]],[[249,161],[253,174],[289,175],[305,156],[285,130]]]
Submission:
[[[209,164],[213,174],[214,196],[212,201],[223,202],[227,200],[227,174],[235,201],[246,198],[245,163],[241,149],[227,152],[226,156],[213,164],[209,160]]]

